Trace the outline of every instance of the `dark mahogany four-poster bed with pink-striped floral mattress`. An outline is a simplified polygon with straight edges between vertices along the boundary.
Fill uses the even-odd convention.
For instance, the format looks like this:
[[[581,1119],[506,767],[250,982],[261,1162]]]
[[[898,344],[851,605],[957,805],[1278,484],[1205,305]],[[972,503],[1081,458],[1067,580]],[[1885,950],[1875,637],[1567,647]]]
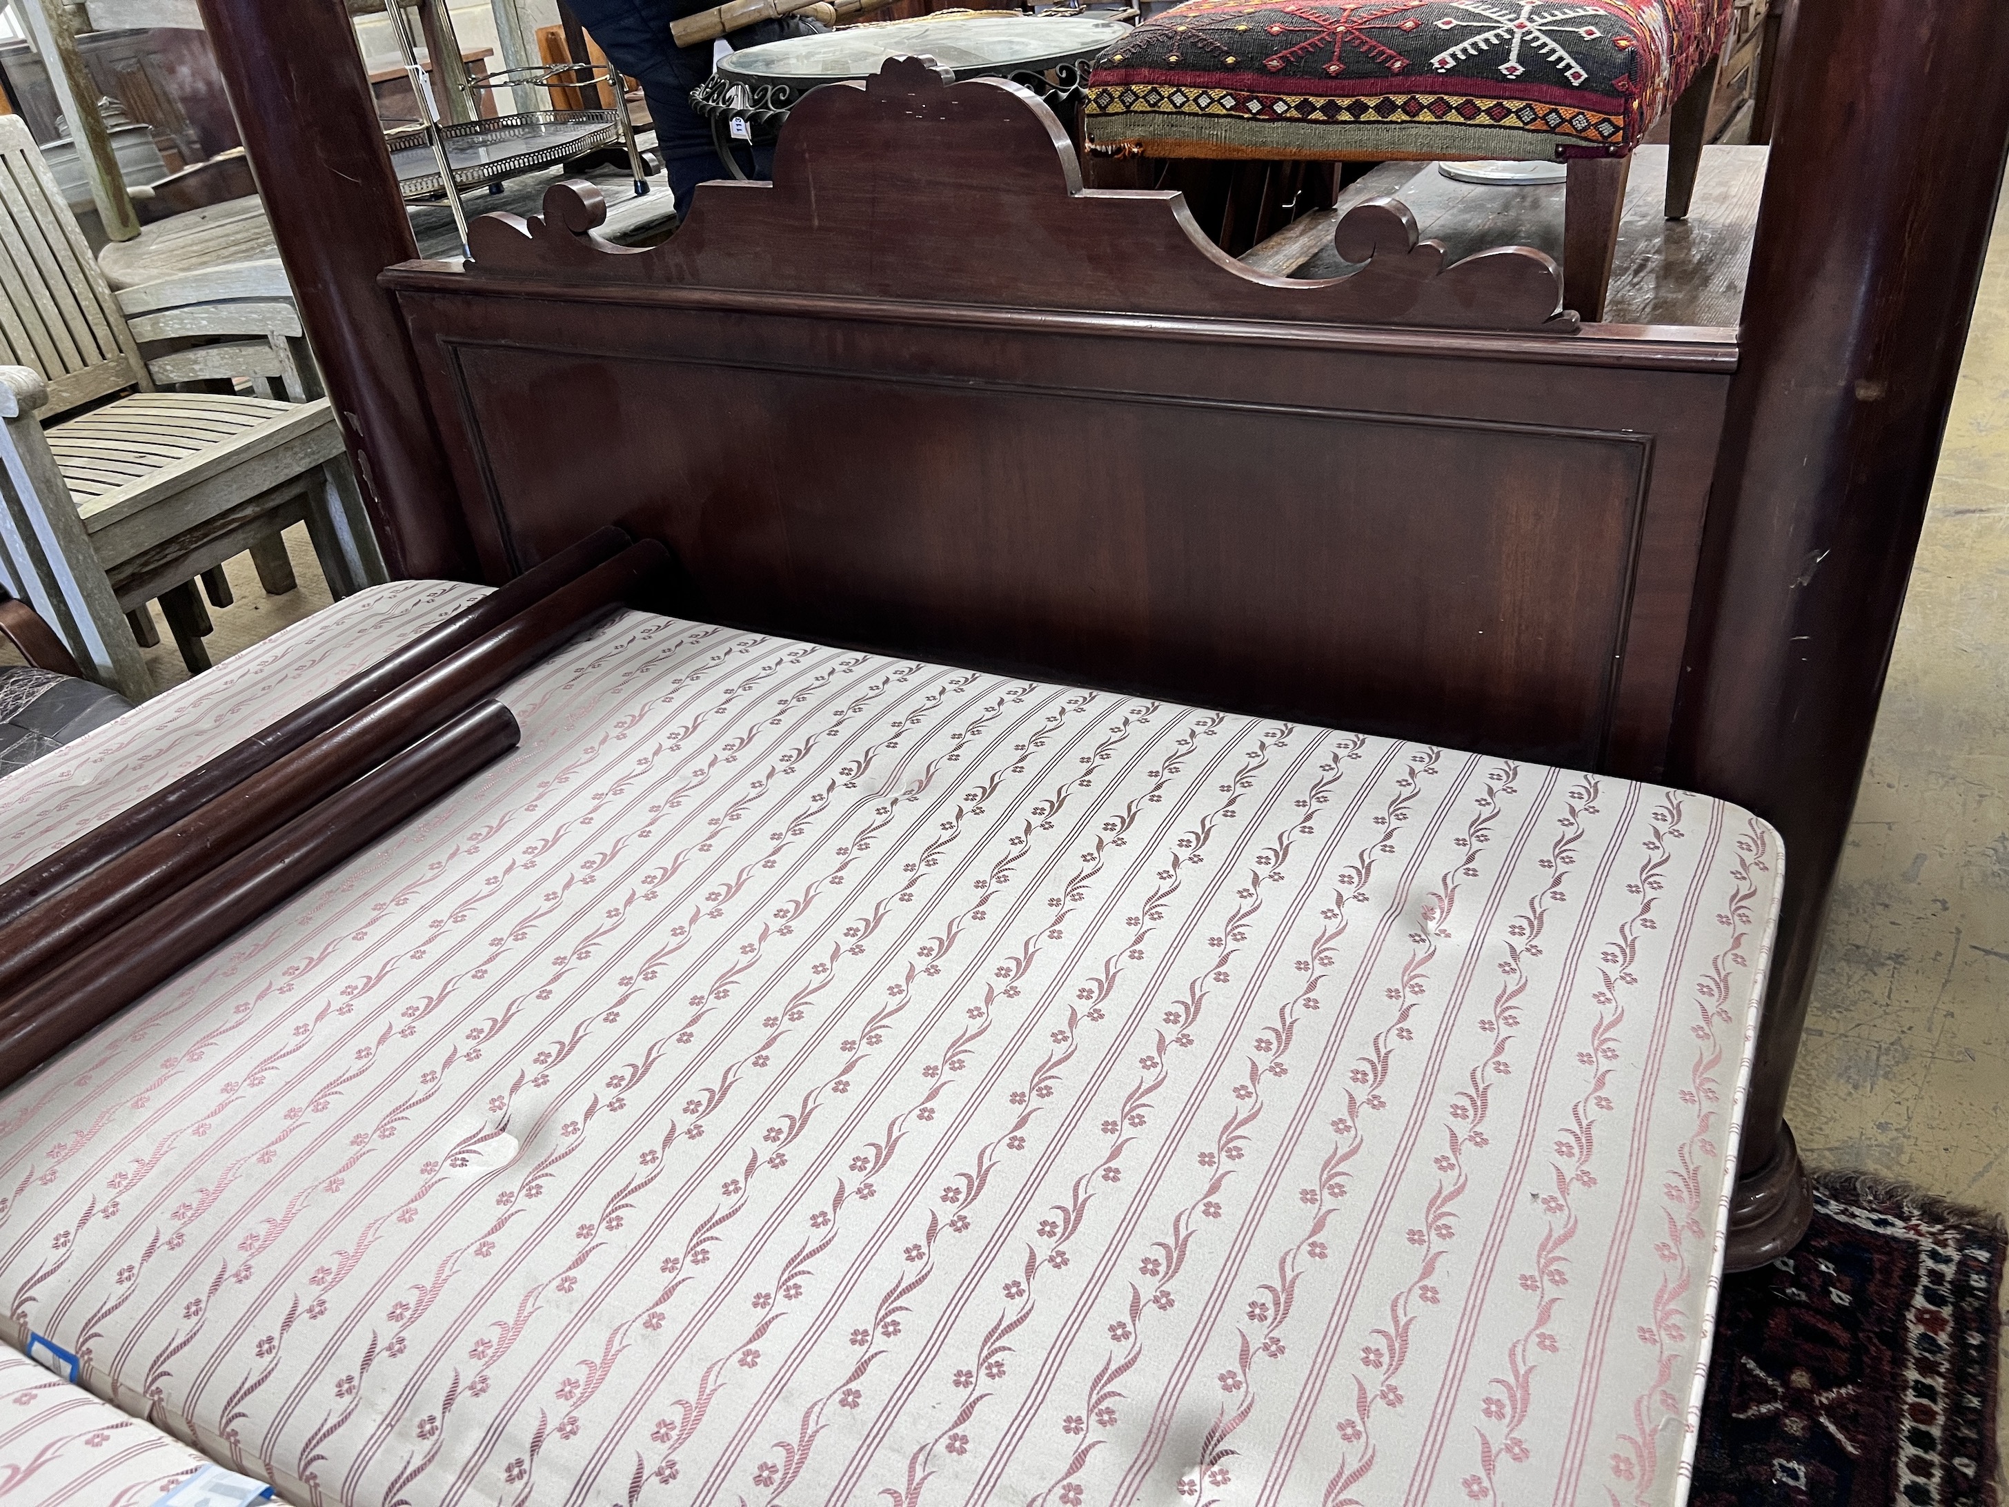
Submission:
[[[297,743],[0,888],[6,1338],[315,1503],[1680,1501],[1806,1222],[1989,6],[1796,38],[1742,330],[1384,203],[1254,275],[916,60],[661,247],[559,187],[418,263],[342,8],[205,14],[406,579],[0,788],[32,878]],[[444,733],[315,699],[414,635]],[[460,784],[183,966],[396,760]]]

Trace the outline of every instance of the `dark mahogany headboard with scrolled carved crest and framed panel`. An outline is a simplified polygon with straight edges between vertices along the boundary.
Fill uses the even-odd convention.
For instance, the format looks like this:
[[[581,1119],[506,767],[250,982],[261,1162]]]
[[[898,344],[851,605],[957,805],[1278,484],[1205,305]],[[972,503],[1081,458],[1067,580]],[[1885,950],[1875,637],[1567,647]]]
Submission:
[[[633,251],[591,189],[384,275],[490,579],[615,520],[675,611],[1651,776],[1736,346],[1358,207],[1330,281],[1081,187],[1011,84],[808,96]]]

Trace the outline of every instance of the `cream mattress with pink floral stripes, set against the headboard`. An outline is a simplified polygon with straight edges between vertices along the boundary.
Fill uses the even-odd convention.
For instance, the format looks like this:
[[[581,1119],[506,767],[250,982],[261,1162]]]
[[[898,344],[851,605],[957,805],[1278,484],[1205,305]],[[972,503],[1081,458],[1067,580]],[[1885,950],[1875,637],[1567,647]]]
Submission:
[[[20,866],[476,595],[0,784]],[[1676,1503],[1722,802],[629,613],[0,1095],[16,1344],[295,1503]]]

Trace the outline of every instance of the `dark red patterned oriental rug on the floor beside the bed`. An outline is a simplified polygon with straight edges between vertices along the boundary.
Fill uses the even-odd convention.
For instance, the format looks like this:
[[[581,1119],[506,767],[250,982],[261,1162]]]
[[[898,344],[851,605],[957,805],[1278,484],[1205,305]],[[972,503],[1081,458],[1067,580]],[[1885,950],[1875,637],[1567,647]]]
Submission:
[[[1995,1507],[2003,1222],[1816,1181],[1790,1256],[1726,1278],[1692,1507]]]

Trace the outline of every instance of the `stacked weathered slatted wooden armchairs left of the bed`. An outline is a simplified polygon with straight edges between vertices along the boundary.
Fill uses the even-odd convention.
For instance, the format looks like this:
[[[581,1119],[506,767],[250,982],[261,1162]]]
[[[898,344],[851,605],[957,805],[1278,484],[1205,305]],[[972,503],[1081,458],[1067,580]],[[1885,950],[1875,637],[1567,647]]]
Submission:
[[[129,699],[153,691],[147,603],[207,667],[195,581],[227,605],[219,567],[251,551],[289,589],[287,524],[333,595],[384,579],[277,263],[115,295],[20,117],[0,117],[0,585]],[[239,378],[273,396],[165,390]]]

